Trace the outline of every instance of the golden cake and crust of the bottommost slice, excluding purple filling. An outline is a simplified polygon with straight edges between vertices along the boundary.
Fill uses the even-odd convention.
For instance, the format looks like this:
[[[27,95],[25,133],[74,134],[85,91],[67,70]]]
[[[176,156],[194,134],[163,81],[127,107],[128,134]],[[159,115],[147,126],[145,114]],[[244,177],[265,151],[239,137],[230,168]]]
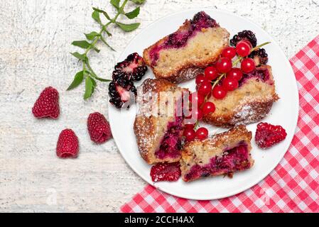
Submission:
[[[205,176],[192,176],[190,172],[192,167],[200,166],[204,167],[209,165],[210,160],[214,157],[222,157],[225,155],[225,151],[235,148],[239,144],[244,144],[247,149],[247,161],[244,161],[245,168],[247,170],[254,165],[254,160],[250,155],[252,146],[250,141],[252,140],[252,132],[247,131],[247,128],[243,125],[236,126],[225,133],[220,133],[207,138],[205,140],[194,140],[186,143],[182,150],[182,158],[180,159],[180,169],[182,171],[182,177],[185,182],[193,181],[202,177],[216,176],[216,175],[229,175],[232,176],[233,172],[214,172],[208,173]],[[237,170],[241,171],[241,170]]]

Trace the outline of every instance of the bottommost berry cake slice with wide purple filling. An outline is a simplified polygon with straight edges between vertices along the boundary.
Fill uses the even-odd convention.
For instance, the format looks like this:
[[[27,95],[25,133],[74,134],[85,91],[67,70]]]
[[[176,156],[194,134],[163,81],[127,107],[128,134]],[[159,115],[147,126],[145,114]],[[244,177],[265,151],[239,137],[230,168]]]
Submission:
[[[228,175],[254,165],[250,155],[252,132],[236,126],[206,140],[186,143],[182,150],[180,169],[185,182],[202,177]]]

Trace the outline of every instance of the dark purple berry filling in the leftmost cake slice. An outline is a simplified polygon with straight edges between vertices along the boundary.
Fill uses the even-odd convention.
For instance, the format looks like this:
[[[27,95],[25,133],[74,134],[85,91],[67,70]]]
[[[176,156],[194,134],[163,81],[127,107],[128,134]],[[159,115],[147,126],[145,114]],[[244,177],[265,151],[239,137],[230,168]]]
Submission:
[[[159,149],[155,153],[156,157],[164,159],[166,157],[175,158],[180,156],[182,122],[182,117],[176,117],[175,121],[168,123],[168,130],[161,141]]]

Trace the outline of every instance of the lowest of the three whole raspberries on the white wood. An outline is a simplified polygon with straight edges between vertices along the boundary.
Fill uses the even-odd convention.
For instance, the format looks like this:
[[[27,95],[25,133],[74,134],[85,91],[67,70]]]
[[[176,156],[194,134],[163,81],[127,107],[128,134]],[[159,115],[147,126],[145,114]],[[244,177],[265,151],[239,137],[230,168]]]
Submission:
[[[58,157],[77,157],[79,153],[79,140],[72,129],[63,130],[58,138],[56,153]]]

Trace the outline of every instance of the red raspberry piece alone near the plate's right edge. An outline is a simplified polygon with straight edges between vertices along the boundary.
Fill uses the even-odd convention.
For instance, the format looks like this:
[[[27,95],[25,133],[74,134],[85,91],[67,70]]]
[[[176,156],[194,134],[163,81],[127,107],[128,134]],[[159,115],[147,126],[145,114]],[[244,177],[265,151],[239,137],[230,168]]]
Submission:
[[[261,122],[257,125],[255,140],[259,148],[266,149],[284,140],[286,135],[283,127]]]

